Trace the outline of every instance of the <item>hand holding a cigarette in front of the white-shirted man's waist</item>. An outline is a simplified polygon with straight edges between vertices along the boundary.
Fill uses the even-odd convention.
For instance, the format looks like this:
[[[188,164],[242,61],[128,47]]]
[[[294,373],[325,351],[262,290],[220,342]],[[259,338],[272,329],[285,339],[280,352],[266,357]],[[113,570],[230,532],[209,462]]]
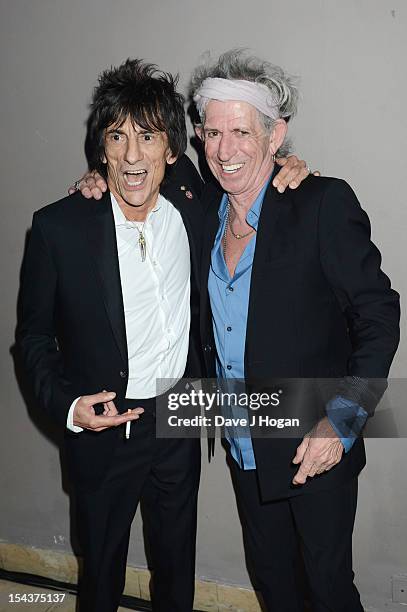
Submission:
[[[143,408],[134,408],[131,412],[119,414],[113,402],[116,393],[102,391],[94,395],[83,395],[77,402],[73,411],[73,424],[91,431],[103,431],[109,427],[117,427],[135,421],[144,412]],[[95,414],[94,405],[103,404],[103,414]]]

